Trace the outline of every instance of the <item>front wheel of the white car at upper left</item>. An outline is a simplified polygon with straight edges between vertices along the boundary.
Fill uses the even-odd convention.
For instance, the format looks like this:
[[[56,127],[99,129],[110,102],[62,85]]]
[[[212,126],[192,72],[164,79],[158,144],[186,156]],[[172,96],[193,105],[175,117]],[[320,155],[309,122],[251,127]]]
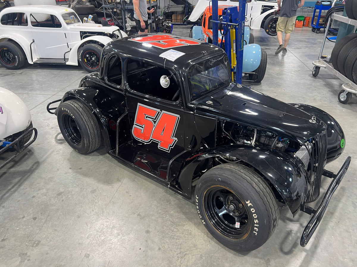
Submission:
[[[102,54],[102,47],[95,43],[89,43],[78,52],[78,61],[82,68],[87,72],[95,72],[99,70],[100,56]]]

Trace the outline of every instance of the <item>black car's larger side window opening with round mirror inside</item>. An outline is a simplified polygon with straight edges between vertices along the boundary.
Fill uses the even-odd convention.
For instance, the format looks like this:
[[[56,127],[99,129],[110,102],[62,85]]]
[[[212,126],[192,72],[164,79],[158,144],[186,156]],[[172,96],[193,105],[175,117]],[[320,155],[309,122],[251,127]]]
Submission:
[[[133,91],[169,101],[180,98],[176,75],[172,75],[168,69],[130,59],[126,73],[128,85]]]

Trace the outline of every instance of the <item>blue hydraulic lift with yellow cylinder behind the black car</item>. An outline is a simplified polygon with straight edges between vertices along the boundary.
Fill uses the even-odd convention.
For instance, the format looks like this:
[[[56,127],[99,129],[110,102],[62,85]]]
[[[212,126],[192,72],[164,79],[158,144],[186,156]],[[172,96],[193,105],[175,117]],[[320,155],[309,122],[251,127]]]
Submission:
[[[212,1],[212,43],[215,46],[222,47],[222,40],[224,38],[225,51],[228,55],[232,72],[234,71],[235,61],[237,64],[235,82],[239,84],[242,84],[245,14],[246,0],[239,0],[238,10],[236,6],[228,7],[222,11],[222,22],[218,21],[218,0]],[[223,26],[223,38],[221,44],[218,44],[218,26],[220,24]],[[231,28],[234,28],[235,38],[232,38]],[[233,42],[231,42],[232,39]],[[236,58],[234,58],[234,52],[236,52]]]

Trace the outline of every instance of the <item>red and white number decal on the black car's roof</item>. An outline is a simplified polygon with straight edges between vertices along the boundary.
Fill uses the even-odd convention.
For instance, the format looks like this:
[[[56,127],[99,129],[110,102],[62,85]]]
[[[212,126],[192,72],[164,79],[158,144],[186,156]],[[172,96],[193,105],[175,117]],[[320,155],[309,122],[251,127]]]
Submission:
[[[201,42],[178,38],[178,37],[170,36],[170,35],[149,35],[149,36],[145,36],[145,37],[136,37],[136,38],[132,38],[129,40],[139,42],[139,43],[145,43],[146,45],[152,45],[152,46],[159,47],[162,49],[201,44]]]

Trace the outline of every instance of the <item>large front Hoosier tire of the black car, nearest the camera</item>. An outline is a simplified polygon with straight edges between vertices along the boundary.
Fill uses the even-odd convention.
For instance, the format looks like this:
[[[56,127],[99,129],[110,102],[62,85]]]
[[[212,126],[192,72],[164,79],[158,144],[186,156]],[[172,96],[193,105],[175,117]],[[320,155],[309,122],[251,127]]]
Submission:
[[[208,232],[234,251],[262,246],[278,224],[279,210],[271,189],[261,176],[240,164],[221,164],[203,174],[196,185],[195,202]]]

